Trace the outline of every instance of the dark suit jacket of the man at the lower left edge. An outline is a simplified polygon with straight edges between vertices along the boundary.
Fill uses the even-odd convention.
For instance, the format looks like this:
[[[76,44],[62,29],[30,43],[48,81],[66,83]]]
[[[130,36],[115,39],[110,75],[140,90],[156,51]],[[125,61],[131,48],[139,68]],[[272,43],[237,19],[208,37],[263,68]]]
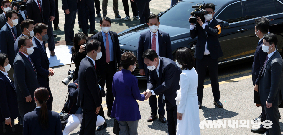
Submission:
[[[14,83],[10,82],[2,72],[0,72],[0,86],[0,121],[5,121],[5,118],[9,117],[14,120],[19,113],[17,93]]]

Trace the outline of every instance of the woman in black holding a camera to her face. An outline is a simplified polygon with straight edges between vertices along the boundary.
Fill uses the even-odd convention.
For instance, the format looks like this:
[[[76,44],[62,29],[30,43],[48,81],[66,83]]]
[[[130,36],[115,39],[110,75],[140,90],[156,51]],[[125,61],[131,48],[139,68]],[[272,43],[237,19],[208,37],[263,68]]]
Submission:
[[[74,63],[76,64],[75,68],[75,76],[73,78],[73,81],[78,79],[78,71],[80,67],[80,62],[85,58],[86,52],[85,52],[85,44],[88,42],[88,37],[85,36],[82,32],[79,32],[75,34],[74,37],[74,46],[72,47],[72,60],[74,60]]]

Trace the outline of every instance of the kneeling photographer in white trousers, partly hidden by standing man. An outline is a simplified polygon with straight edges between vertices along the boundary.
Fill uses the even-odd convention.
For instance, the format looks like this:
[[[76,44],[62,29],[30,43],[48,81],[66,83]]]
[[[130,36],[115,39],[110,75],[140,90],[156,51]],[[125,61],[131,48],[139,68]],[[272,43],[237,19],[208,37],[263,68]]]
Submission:
[[[79,124],[82,123],[83,119],[83,109],[80,106],[77,106],[77,97],[78,97],[78,79],[75,80],[73,83],[68,85],[68,100],[64,105],[63,111],[65,113],[69,113],[69,118],[66,119],[66,126],[63,130],[63,135],[68,135],[70,132],[75,130]],[[101,91],[101,96],[105,96],[105,91],[99,86]],[[96,126],[100,126],[104,124],[105,120],[100,115],[97,116]],[[64,126],[62,124],[62,126]]]

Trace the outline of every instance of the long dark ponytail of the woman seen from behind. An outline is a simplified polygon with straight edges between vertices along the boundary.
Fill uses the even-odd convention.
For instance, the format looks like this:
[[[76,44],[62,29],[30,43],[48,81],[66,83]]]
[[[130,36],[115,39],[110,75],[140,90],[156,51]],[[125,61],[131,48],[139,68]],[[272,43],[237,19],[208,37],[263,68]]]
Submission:
[[[40,125],[45,130],[47,129],[48,125],[48,110],[46,106],[46,101],[49,98],[49,92],[47,88],[39,87],[34,91],[34,97],[37,101],[41,104],[40,108],[40,118],[38,118]]]

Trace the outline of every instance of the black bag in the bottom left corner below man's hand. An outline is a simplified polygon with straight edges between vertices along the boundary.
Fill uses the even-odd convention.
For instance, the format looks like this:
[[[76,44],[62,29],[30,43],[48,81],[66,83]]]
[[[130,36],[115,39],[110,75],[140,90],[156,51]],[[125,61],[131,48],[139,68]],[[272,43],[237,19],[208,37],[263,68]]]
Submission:
[[[5,125],[5,121],[2,122],[0,134],[5,135],[22,135],[23,134],[23,124],[15,125],[15,121],[12,121],[12,127],[10,125]]]

